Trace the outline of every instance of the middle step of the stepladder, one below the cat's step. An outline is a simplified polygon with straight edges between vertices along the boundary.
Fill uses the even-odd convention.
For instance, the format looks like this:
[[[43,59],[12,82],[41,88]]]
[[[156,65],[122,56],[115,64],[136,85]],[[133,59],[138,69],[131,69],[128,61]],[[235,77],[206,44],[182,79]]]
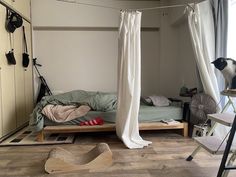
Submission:
[[[215,122],[231,127],[234,121],[235,114],[230,114],[230,113],[208,114],[207,117],[208,119],[211,119]]]

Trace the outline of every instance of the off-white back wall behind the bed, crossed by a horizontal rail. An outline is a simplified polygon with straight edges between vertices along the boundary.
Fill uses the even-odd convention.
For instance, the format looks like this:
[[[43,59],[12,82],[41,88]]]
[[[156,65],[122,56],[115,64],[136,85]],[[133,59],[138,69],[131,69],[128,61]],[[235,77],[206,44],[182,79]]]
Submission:
[[[111,0],[86,2],[125,8],[150,7],[159,3]],[[118,32],[106,29],[99,31],[97,27],[118,27],[119,11],[55,0],[33,0],[32,12],[34,56],[43,65],[41,72],[54,92],[74,89],[116,91]],[[142,26],[158,28],[159,18],[158,11],[145,12]],[[62,28],[50,31],[40,27]],[[76,30],[67,31],[66,27],[76,27]],[[83,31],[78,27],[94,28]],[[159,72],[159,42],[158,31],[142,32],[144,94],[158,91],[155,78]]]

